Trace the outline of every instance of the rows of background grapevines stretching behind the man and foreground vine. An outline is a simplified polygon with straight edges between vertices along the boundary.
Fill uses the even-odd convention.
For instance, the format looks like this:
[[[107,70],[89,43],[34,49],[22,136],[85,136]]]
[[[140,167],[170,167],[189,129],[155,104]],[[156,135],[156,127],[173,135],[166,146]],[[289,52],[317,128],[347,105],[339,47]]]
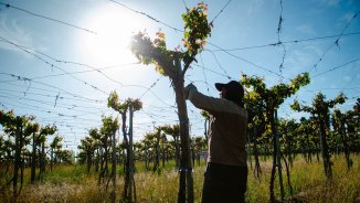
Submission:
[[[274,117],[271,117],[266,109],[266,97],[258,94],[264,93],[261,89],[266,89],[264,79],[244,75],[242,82],[248,87],[245,94],[245,105],[248,110],[247,154],[253,175],[262,177],[260,157],[273,162],[274,157],[279,161],[283,160],[287,171],[297,156],[306,162],[311,162],[314,159],[322,161],[325,175],[331,178],[331,156],[343,154],[348,170],[351,170],[353,164],[351,154],[360,151],[359,98],[351,110],[341,111],[336,108],[336,105],[345,103],[343,94],[339,94],[333,99],[326,99],[319,93],[309,106],[301,105],[297,100],[290,105],[296,111],[309,113],[308,118],[279,119],[276,115],[277,108],[274,108],[271,113]],[[255,84],[263,86],[260,88]],[[269,89],[274,90],[275,86]],[[120,175],[124,177],[126,184],[121,197],[125,202],[136,202],[135,162],[142,164],[145,170],[159,174],[170,161],[174,163],[174,169],[181,169],[180,126],[178,124],[157,126],[152,131],[144,135],[141,140],[131,141],[130,145],[133,127],[127,121],[128,116],[131,113],[134,117],[134,111],[141,108],[141,101],[126,99],[119,103],[114,92],[108,98],[108,106],[119,113],[121,121],[117,117],[103,116],[102,126],[89,129],[88,135],[81,140],[76,163],[86,164],[88,173],[92,171],[97,173],[99,184],[106,183],[108,186],[113,180],[113,189],[116,186],[116,165],[118,165],[123,169]],[[191,138],[192,165],[200,165],[200,160],[207,158],[209,115],[203,111],[202,116],[205,136]],[[3,129],[0,136],[0,162],[2,173],[7,174],[0,186],[4,190],[12,183],[14,195],[21,191],[18,185],[20,184],[21,189],[24,182],[25,168],[31,171],[29,182],[33,184],[41,180],[46,171],[52,171],[54,165],[74,161],[71,152],[63,149],[63,138],[56,133],[56,126],[41,127],[34,122],[34,116],[15,116],[13,110],[0,110],[0,124]],[[120,135],[119,129],[121,129],[121,138],[116,137]],[[275,130],[278,136],[274,136],[272,130]],[[116,133],[117,131],[119,133]],[[47,143],[49,137],[53,139]],[[278,164],[278,160],[274,163]],[[275,183],[271,182],[269,186],[271,184]],[[274,190],[273,186],[271,190]]]

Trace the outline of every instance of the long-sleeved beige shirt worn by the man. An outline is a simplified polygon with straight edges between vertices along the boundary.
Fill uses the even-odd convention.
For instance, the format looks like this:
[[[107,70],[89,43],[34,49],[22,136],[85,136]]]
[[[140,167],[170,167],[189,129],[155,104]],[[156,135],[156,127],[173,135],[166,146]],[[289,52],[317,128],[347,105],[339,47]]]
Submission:
[[[208,162],[246,165],[247,111],[231,100],[205,96],[191,88],[188,99],[210,113]]]

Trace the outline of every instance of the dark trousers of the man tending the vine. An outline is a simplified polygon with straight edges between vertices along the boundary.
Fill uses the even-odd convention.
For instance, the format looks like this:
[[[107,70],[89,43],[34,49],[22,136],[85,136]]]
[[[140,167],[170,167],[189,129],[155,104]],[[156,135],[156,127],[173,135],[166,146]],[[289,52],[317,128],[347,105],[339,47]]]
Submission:
[[[247,167],[208,163],[202,203],[245,202]]]

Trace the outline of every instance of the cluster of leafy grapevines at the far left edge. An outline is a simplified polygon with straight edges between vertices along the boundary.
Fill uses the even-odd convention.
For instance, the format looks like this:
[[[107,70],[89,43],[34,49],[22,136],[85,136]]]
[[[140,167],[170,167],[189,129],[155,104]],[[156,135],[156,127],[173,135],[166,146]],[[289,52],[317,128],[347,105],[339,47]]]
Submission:
[[[14,196],[23,185],[25,168],[31,170],[30,183],[33,184],[43,179],[46,165],[52,171],[55,164],[73,162],[71,151],[63,149],[63,137],[56,133],[56,126],[41,126],[34,119],[34,116],[15,116],[13,110],[0,109],[3,132],[0,133],[0,170],[3,177],[0,190],[12,183]],[[47,143],[51,136],[53,139]]]

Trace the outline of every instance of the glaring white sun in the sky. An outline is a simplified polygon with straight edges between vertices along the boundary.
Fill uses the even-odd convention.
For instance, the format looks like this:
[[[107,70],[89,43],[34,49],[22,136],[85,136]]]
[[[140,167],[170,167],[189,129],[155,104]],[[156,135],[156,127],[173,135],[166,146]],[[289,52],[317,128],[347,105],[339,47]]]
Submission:
[[[129,43],[131,35],[141,29],[141,22],[134,17],[134,13],[107,4],[92,12],[86,24],[97,33],[86,33],[81,39],[83,54],[93,63],[114,65],[136,61]]]

